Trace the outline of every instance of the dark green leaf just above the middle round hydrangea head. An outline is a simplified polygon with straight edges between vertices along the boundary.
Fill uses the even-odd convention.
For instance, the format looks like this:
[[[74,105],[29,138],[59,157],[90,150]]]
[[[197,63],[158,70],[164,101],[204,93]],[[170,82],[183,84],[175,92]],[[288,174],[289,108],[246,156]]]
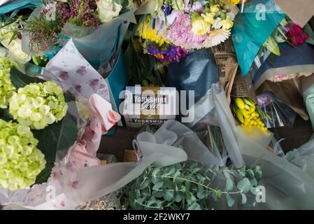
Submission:
[[[15,67],[11,68],[10,70],[10,78],[11,78],[12,84],[17,90],[20,87],[24,87],[25,85],[28,85],[30,83],[44,83],[45,82],[45,80],[43,79],[27,76],[24,73],[18,71]]]

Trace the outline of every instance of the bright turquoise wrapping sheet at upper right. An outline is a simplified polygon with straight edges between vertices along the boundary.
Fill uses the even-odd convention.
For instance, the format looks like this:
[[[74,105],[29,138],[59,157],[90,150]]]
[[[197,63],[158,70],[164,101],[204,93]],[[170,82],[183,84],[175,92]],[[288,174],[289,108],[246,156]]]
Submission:
[[[259,49],[285,18],[273,0],[252,0],[238,13],[232,29],[232,41],[242,75],[250,71]]]

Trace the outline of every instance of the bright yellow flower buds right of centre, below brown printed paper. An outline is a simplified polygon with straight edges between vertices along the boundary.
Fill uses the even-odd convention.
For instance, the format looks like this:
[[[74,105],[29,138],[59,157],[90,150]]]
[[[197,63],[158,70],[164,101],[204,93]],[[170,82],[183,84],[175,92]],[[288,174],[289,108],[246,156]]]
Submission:
[[[259,127],[261,130],[267,131],[259,113],[257,113],[255,102],[251,99],[247,97],[236,98],[232,108],[236,118],[244,127]]]

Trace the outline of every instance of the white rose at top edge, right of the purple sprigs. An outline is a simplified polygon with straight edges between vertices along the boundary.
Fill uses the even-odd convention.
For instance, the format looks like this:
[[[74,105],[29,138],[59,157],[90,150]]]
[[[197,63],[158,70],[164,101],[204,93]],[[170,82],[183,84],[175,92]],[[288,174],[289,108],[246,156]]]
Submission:
[[[109,22],[117,17],[120,13],[122,6],[112,0],[99,0],[97,1],[97,12],[101,22]]]

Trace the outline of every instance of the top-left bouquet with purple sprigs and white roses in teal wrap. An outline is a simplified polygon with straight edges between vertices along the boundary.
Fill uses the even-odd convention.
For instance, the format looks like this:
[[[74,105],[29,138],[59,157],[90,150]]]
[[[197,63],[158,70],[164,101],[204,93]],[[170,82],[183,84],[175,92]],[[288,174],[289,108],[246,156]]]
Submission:
[[[9,50],[23,50],[24,63],[32,56],[34,64],[45,66],[73,38],[97,69],[114,61],[111,71],[129,22],[135,22],[133,7],[131,0],[45,0],[34,11],[17,12],[13,18],[5,15],[0,40]]]

